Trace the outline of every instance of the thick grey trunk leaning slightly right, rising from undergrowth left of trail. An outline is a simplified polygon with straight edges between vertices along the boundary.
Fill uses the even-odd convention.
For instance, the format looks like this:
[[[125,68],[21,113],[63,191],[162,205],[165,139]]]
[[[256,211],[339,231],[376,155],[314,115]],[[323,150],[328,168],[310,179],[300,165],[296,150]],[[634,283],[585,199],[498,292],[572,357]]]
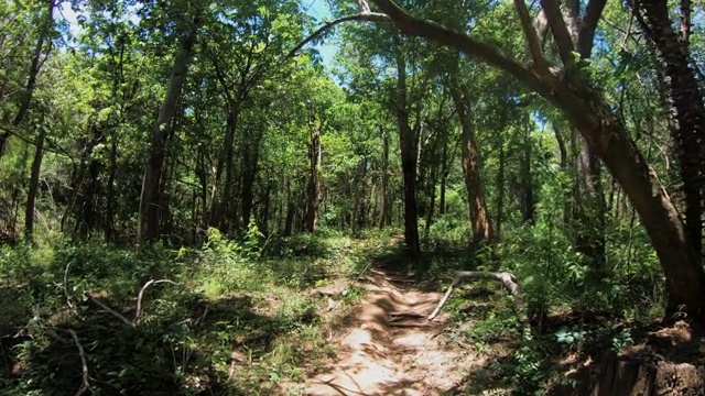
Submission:
[[[139,241],[154,242],[159,239],[159,218],[160,218],[160,178],[162,176],[162,166],[164,163],[164,151],[166,148],[167,129],[171,128],[172,120],[176,113],[181,90],[188,73],[188,64],[196,34],[198,23],[181,43],[178,52],[174,57],[174,66],[172,67],[169,78],[169,89],[166,97],[159,112],[156,123],[152,128],[150,138],[149,158],[144,180],[142,183],[142,194],[140,198],[140,216],[139,216]]]

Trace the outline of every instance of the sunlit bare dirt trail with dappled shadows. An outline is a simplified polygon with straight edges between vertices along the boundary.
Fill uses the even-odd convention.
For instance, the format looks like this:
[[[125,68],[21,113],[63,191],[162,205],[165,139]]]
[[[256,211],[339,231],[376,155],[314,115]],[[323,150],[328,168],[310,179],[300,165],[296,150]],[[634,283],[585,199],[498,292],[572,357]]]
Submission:
[[[453,393],[474,365],[468,350],[446,345],[447,315],[427,322],[441,298],[406,278],[376,270],[359,286],[368,292],[330,342],[336,356],[311,370],[304,395],[437,395]],[[416,316],[414,316],[416,314]]]

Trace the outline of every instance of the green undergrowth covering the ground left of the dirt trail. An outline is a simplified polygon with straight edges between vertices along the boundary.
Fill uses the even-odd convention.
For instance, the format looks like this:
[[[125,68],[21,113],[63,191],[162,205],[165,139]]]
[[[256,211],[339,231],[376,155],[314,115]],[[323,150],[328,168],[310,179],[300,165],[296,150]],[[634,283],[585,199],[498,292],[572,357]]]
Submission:
[[[1,393],[256,395],[302,381],[305,361],[330,353],[319,315],[326,301],[304,290],[358,274],[372,240],[264,241],[250,227],[241,241],[209,230],[202,249],[177,251],[4,249]],[[144,288],[150,280],[169,282]],[[360,293],[346,289],[343,302]]]

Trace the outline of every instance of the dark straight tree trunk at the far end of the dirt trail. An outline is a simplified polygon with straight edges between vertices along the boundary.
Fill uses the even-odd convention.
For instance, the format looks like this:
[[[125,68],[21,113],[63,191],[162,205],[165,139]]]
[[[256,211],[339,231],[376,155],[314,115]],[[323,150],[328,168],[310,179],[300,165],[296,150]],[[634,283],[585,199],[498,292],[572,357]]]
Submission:
[[[406,102],[406,59],[402,48],[397,57],[397,102],[395,116],[399,127],[401,169],[404,184],[404,241],[406,253],[412,258],[421,255],[419,244],[419,219],[416,213],[416,163],[417,142],[414,130],[409,125],[409,106]]]

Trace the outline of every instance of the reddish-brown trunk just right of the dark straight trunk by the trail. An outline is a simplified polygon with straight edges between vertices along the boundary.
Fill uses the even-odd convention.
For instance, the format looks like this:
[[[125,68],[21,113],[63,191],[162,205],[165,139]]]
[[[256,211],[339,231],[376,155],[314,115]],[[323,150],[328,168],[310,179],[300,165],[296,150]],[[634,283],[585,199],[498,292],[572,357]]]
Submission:
[[[460,141],[463,175],[465,178],[465,188],[467,189],[470,221],[473,222],[473,244],[479,246],[485,243],[491,243],[495,235],[491,220],[487,212],[485,188],[480,176],[480,156],[477,141],[475,140],[475,125],[473,114],[470,113],[470,98],[467,90],[462,88],[458,80],[458,62],[459,59],[456,57],[451,72],[451,96],[453,97],[453,102],[460,120],[460,127],[463,128]]]

